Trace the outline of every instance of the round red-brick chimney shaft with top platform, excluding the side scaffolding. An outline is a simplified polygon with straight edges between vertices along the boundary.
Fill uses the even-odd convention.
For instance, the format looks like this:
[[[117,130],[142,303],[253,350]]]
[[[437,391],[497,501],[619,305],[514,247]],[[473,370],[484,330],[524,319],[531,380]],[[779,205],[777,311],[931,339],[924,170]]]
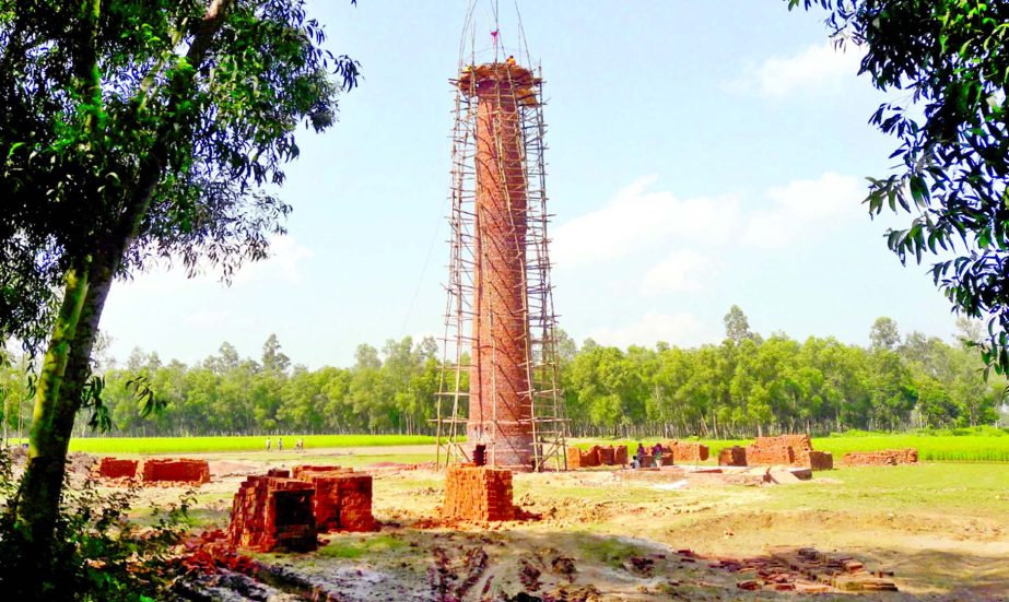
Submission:
[[[531,469],[533,458],[526,275],[527,182],[520,105],[536,103],[530,70],[514,61],[468,67],[477,99],[472,367],[467,447],[486,462]]]

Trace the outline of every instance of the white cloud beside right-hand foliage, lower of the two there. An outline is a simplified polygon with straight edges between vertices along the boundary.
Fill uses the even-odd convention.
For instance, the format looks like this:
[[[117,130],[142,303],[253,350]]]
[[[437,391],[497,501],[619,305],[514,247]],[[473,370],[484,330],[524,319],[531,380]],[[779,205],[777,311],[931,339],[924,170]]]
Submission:
[[[772,188],[769,205],[748,214],[742,241],[765,249],[786,247],[816,228],[864,214],[865,196],[859,178],[833,173]]]

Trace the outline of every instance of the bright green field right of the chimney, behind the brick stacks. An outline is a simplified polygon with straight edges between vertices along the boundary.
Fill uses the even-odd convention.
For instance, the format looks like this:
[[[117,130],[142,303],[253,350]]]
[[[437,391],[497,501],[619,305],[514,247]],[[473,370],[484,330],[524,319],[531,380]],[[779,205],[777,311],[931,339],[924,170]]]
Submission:
[[[961,432],[962,433],[962,432]],[[654,445],[656,439],[645,439],[642,442]],[[751,439],[701,439],[708,446],[712,457],[717,458],[718,452],[734,445],[746,446]],[[977,429],[971,434],[877,434],[856,433],[852,435],[836,435],[831,437],[814,437],[813,449],[830,451],[834,461],[840,462],[841,457],[849,451],[876,451],[880,449],[901,449],[913,447],[918,450],[918,458],[923,462],[1009,462],[1009,434],[994,428]],[[609,440],[609,439],[579,439],[578,447],[587,448],[594,444],[627,445],[633,450],[637,441]]]

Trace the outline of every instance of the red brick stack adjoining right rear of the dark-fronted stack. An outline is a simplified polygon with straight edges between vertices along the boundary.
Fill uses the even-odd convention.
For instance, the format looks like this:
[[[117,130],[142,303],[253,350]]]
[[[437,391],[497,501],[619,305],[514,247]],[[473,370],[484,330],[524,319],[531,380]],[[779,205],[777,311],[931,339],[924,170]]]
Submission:
[[[312,483],[316,528],[325,531],[373,531],[372,475],[340,467],[294,467],[294,477]]]

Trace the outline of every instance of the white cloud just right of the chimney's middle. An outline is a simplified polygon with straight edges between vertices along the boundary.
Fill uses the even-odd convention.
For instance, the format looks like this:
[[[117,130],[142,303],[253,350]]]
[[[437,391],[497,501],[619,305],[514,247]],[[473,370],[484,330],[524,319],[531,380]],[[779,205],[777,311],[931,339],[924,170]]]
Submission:
[[[619,191],[605,208],[561,224],[553,257],[564,267],[611,260],[661,241],[725,241],[736,219],[734,197],[681,200],[671,192],[649,192],[654,176]]]

